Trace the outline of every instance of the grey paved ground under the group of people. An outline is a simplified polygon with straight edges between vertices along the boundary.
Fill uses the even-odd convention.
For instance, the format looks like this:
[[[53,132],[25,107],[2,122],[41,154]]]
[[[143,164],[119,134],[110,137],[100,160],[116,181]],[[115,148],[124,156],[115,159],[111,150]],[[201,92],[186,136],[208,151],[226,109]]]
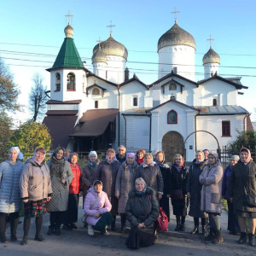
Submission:
[[[46,241],[33,241],[35,234],[35,225],[32,226],[29,234],[28,244],[20,246],[22,237],[22,224],[18,228],[18,239],[16,242],[8,244],[0,243],[0,256],[9,255],[256,255],[256,247],[246,245],[238,245],[236,241],[238,236],[231,236],[227,228],[227,213],[223,211],[220,221],[224,230],[224,242],[219,245],[213,245],[212,242],[204,241],[201,235],[191,236],[189,231],[193,229],[193,219],[186,218],[186,230],[184,232],[176,232],[174,228],[175,218],[171,216],[168,232],[159,234],[159,238],[152,247],[140,248],[131,251],[125,247],[126,234],[119,232],[109,232],[111,236],[102,236],[96,232],[96,235],[90,237],[87,230],[83,228],[81,216],[83,214],[82,207],[79,207],[79,230],[67,231],[63,230],[61,236],[47,236],[46,232],[49,225],[49,214],[44,215],[44,226],[42,234]],[[23,220],[21,218],[21,220]],[[119,218],[117,219],[117,228],[120,228]],[[7,230],[9,238],[9,228]]]

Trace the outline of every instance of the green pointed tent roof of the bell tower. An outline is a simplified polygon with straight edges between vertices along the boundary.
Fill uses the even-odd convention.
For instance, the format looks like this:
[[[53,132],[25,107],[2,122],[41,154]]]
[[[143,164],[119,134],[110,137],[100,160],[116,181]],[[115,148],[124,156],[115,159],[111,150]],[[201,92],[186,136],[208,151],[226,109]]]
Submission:
[[[53,67],[84,67],[73,38],[64,39]]]

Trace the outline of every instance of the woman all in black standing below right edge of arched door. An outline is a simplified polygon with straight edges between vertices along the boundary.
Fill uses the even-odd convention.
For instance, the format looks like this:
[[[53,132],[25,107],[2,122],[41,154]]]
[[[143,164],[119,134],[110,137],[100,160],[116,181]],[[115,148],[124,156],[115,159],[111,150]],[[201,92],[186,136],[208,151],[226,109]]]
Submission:
[[[189,171],[183,163],[183,156],[176,154],[171,169],[171,197],[173,215],[176,215],[177,226],[175,231],[185,230],[185,218],[187,215],[188,198],[186,183]]]

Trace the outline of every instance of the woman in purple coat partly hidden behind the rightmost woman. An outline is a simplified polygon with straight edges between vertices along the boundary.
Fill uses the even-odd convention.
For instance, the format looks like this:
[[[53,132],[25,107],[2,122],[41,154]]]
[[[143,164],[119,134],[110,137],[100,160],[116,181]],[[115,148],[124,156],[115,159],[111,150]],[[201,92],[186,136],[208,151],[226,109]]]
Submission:
[[[237,164],[239,156],[234,154],[230,157],[230,166],[227,166],[224,171],[223,183],[222,183],[222,197],[227,201],[229,212],[228,212],[228,230],[232,235],[240,235],[240,227],[238,224],[238,218],[236,212],[234,212],[233,203],[230,202],[229,186],[230,177],[233,171],[233,166]]]

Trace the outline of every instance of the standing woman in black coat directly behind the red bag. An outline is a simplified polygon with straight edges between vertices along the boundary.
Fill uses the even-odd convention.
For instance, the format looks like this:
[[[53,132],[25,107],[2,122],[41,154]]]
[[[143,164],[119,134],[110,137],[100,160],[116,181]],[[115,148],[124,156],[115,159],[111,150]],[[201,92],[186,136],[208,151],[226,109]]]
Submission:
[[[160,207],[166,212],[168,222],[170,221],[170,206],[169,206],[169,197],[170,197],[170,186],[171,186],[171,169],[165,163],[165,153],[164,151],[159,151],[155,154],[155,163],[160,168],[160,172],[164,181],[164,194],[160,199]]]

